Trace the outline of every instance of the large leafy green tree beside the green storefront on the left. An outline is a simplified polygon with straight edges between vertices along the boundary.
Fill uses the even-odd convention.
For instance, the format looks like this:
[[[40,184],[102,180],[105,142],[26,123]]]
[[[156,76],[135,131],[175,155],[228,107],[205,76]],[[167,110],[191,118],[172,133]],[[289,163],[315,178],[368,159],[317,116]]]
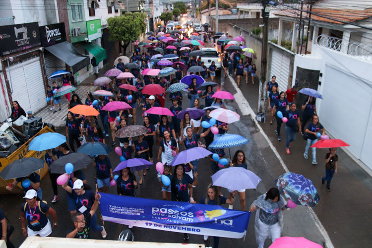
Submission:
[[[135,41],[146,31],[146,15],[141,12],[126,12],[124,15],[110,17],[107,19],[109,24],[109,40],[119,41],[120,46],[124,49],[130,41]],[[123,45],[122,45],[123,41]]]

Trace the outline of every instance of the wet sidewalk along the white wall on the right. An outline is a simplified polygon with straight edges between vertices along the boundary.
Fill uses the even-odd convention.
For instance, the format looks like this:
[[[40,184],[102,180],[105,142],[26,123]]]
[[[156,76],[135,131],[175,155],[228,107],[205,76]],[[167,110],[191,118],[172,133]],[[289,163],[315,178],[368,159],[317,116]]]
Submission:
[[[236,101],[241,107],[243,115],[252,113],[252,116],[255,116],[258,105],[259,82],[257,78],[255,78],[254,84],[251,82],[246,84],[245,78],[242,78],[240,88],[237,87],[233,77],[228,76],[227,78],[238,92],[236,95],[241,96],[240,99],[236,97]],[[268,113],[265,118],[269,119]],[[316,149],[318,165],[313,166],[311,159],[306,160],[303,156],[306,141],[301,134],[297,134],[297,139],[291,143],[291,154],[286,154],[286,137],[283,125],[281,128],[282,141],[278,141],[275,134],[276,122],[272,125],[269,124],[269,121],[258,123],[257,127],[262,128],[267,135],[273,153],[277,154],[280,158],[279,161],[282,160],[280,162],[282,162],[283,168],[287,167],[289,171],[302,174],[312,180],[320,195],[320,201],[313,211],[324,226],[333,246],[336,248],[371,247],[372,224],[369,217],[372,211],[372,178],[370,175],[342,149],[337,149],[338,173],[332,179],[331,192],[328,192],[320,180],[325,175],[324,159],[328,149]],[[309,157],[311,157],[311,149]],[[307,224],[303,223],[302,225]]]

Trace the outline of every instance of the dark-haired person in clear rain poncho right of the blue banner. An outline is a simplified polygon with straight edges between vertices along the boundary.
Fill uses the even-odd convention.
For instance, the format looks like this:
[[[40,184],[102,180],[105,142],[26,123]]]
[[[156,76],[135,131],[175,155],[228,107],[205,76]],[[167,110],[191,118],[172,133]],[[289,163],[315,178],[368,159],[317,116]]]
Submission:
[[[288,208],[287,202],[276,187],[270,188],[259,196],[249,211],[257,210],[254,220],[254,233],[258,248],[263,248],[265,240],[271,236],[272,242],[280,238],[283,228],[283,214],[281,210]]]

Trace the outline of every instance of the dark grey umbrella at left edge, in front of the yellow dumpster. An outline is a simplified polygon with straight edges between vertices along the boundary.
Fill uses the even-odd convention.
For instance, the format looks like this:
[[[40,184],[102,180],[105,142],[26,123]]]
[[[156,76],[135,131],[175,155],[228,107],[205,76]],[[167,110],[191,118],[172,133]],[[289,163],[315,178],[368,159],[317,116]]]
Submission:
[[[38,158],[21,158],[8,164],[1,172],[3,180],[12,178],[23,178],[44,167],[45,161]]]

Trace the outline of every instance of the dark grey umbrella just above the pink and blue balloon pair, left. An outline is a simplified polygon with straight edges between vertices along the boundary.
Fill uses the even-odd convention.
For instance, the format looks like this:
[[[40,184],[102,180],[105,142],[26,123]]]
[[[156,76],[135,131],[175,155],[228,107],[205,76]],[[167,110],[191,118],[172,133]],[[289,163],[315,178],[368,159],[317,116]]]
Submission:
[[[70,153],[66,156],[57,159],[50,165],[49,168],[51,170],[51,173],[55,174],[65,173],[64,166],[67,163],[71,163],[73,165],[73,171],[77,171],[82,170],[85,167],[91,165],[93,163],[93,159],[84,153]]]

